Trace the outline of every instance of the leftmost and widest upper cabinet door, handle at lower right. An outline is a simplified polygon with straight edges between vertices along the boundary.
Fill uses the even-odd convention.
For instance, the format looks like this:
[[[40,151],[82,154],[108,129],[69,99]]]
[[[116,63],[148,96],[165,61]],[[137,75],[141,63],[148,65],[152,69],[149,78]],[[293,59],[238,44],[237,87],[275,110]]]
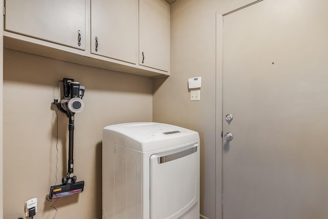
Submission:
[[[5,7],[6,31],[85,49],[85,0],[10,0]]]

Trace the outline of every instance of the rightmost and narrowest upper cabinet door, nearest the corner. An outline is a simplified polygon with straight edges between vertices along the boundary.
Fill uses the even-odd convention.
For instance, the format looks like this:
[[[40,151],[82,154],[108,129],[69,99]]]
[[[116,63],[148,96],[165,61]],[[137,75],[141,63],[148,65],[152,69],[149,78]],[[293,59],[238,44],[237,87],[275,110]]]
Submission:
[[[169,71],[170,5],[164,0],[139,0],[139,64]]]

